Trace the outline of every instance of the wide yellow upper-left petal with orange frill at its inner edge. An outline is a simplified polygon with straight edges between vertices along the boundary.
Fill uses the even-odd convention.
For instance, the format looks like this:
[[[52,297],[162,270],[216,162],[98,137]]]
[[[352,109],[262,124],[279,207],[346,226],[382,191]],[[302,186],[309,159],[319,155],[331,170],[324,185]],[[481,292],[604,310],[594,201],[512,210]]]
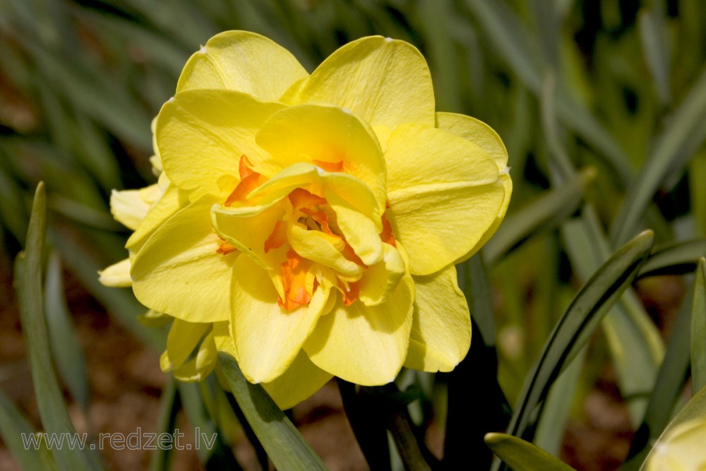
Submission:
[[[277,103],[258,102],[231,90],[187,90],[162,106],[157,117],[157,145],[167,177],[189,191],[191,201],[206,193],[224,199],[226,176],[239,181],[239,162],[246,155],[258,172],[268,169],[269,156],[255,143],[255,134]]]

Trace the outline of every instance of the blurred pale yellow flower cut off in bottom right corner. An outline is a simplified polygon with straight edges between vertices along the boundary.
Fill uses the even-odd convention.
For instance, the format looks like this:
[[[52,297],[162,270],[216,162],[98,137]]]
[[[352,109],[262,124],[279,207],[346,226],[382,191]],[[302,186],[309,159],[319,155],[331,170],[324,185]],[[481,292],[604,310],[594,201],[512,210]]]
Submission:
[[[654,446],[647,471],[706,470],[706,419],[678,424]]]

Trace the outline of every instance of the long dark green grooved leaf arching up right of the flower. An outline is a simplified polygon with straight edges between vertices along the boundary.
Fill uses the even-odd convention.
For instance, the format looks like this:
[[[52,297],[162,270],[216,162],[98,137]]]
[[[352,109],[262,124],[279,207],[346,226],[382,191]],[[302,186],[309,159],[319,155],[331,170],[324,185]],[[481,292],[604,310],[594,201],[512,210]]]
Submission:
[[[510,434],[525,434],[535,409],[546,398],[563,366],[578,354],[610,307],[630,286],[653,242],[651,231],[642,232],[611,256],[573,299],[527,375],[508,427]]]

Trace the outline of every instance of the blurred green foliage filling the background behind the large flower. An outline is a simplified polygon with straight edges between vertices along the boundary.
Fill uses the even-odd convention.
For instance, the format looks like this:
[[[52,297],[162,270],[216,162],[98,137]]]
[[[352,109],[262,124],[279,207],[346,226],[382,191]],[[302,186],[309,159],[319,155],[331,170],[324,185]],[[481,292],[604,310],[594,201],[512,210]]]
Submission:
[[[477,374],[489,388],[498,378],[508,400],[499,400],[501,410],[520,397],[579,287],[618,247],[651,228],[666,249],[646,267],[661,273],[689,273],[705,254],[705,25],[700,0],[4,0],[4,251],[14,257],[23,246],[31,196],[44,181],[49,244],[86,290],[159,350],[159,335],[136,321],[143,309],[131,293],[102,287],[95,273],[124,258],[126,232],[109,214],[110,191],[153,180],[150,119],[189,54],[217,32],[245,29],[279,42],[311,71],[357,37],[407,40],[429,61],[437,109],[486,121],[510,154],[508,217],[460,269],[478,327],[469,356],[489,355],[489,363],[455,373]],[[660,280],[647,279],[642,296]],[[690,289],[690,279],[678,283]],[[659,436],[690,361],[674,353],[684,342],[665,349],[662,314],[655,323],[628,289],[602,323],[604,335],[574,352],[578,363],[555,383],[561,393],[549,392],[543,419],[520,436],[557,453],[572,401],[606,358],[635,429],[666,414],[645,432]],[[673,335],[688,344],[688,330]],[[666,377],[665,354],[681,374],[653,390]],[[455,374],[426,388],[429,403]],[[451,395],[448,407],[460,407]],[[503,429],[503,414],[476,427]]]

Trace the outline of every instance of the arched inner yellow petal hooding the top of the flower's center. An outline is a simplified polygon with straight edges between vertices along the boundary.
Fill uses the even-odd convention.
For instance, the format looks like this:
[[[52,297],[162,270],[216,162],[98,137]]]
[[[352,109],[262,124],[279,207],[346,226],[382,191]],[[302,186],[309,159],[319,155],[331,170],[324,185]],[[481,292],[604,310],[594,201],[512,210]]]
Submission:
[[[385,162],[370,127],[346,109],[299,105],[273,114],[257,143],[282,167],[297,162],[341,164],[342,172],[364,181],[385,208]]]

